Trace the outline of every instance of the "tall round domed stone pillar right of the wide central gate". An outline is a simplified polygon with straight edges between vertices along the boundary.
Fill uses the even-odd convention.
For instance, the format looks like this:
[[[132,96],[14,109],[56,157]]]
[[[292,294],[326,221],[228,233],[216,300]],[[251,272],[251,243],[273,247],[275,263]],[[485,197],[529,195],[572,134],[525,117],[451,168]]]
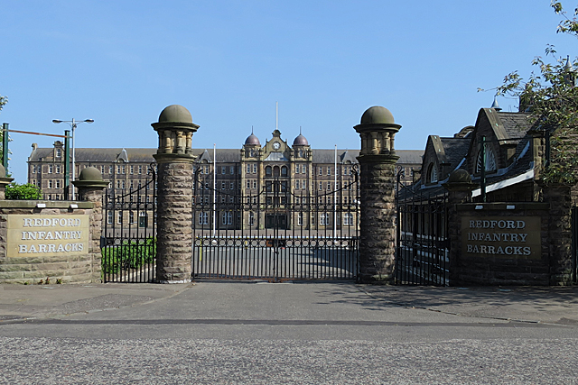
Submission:
[[[396,256],[396,161],[394,136],[401,125],[380,106],[361,116],[359,280],[390,283]]]

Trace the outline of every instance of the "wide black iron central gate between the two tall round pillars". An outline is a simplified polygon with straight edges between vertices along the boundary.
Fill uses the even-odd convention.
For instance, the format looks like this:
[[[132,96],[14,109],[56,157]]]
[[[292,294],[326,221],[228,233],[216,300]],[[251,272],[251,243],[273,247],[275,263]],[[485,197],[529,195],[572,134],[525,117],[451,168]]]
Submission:
[[[195,174],[192,278],[354,280],[359,270],[358,178],[305,194],[271,178],[254,195]],[[320,185],[317,185],[320,186]],[[317,186],[315,188],[317,189]],[[335,186],[337,187],[337,186]],[[301,192],[303,191],[303,192]]]

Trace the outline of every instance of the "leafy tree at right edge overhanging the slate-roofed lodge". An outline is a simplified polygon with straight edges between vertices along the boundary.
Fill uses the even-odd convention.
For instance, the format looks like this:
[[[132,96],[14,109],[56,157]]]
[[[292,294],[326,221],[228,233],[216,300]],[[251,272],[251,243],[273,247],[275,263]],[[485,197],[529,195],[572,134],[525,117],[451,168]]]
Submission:
[[[557,32],[578,37],[578,8],[569,18],[561,2],[552,1],[551,6],[564,17]],[[578,63],[569,56],[557,57],[552,45],[546,46],[545,58],[538,56],[532,61],[538,71],[527,79],[517,71],[508,74],[496,88],[497,95],[518,97],[520,111],[531,112],[536,131],[544,134],[546,151],[540,179],[545,184],[574,185],[578,181],[578,87],[573,67]]]

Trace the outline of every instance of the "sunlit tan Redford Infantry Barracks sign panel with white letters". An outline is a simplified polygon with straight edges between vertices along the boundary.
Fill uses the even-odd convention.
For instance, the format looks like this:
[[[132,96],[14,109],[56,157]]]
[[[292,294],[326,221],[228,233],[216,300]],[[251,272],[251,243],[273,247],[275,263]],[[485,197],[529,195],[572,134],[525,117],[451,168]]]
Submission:
[[[89,215],[7,215],[7,257],[89,252]]]

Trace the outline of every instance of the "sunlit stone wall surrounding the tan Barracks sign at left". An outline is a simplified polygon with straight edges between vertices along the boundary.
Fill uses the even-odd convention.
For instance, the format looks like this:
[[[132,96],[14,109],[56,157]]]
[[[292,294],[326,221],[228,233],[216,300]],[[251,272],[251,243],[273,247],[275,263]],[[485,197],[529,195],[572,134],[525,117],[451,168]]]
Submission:
[[[56,283],[56,280],[61,280],[62,283],[100,281],[99,239],[102,215],[98,206],[100,204],[98,194],[96,196],[96,202],[0,200],[0,282],[34,284],[40,280],[46,280],[46,278],[50,278],[51,283]],[[28,237],[28,235],[22,234],[22,231],[12,230],[18,234],[12,234],[12,242],[8,242],[8,220],[11,215],[13,219],[16,217],[18,219],[23,217],[38,219],[84,218],[83,220],[88,221],[89,229],[89,234],[82,235],[85,237],[83,242],[88,245],[87,250],[84,250],[84,246],[82,246],[82,251],[51,253],[48,250],[36,252],[35,246],[35,252],[30,252],[30,250],[26,250],[28,246],[23,245],[20,246],[19,252],[10,252],[8,247],[11,245],[14,247],[16,238]],[[33,230],[32,227],[30,229]],[[42,229],[42,227],[38,227],[38,229]],[[31,236],[37,236],[37,234]],[[70,249],[70,247],[67,248]]]

